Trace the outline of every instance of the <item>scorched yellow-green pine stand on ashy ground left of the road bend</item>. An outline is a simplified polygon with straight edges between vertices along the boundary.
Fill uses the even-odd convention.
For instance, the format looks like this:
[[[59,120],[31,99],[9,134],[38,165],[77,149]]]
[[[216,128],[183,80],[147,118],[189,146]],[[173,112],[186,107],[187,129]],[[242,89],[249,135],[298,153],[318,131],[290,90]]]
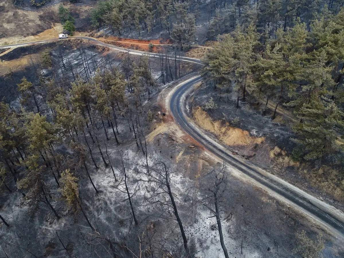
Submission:
[[[137,63],[127,57],[120,68],[97,69],[87,80],[75,72],[72,69],[75,80],[66,82],[41,72],[38,82],[23,77],[18,84],[19,106],[0,102],[0,192],[19,189],[27,199],[49,205],[56,217],[47,197],[48,182],[55,181],[57,187],[74,182],[73,173],[84,168],[98,192],[88,173],[90,164],[99,167],[97,158],[116,178],[107,142],[113,134],[117,145],[121,143],[120,121],[146,153],[143,100],[156,86],[147,56]],[[67,195],[63,193],[68,203]]]

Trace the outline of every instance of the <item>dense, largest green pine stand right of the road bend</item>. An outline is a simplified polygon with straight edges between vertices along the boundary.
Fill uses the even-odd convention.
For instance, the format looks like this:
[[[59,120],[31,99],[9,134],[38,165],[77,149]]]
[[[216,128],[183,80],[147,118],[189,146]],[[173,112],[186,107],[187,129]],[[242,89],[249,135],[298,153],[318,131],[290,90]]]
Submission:
[[[265,40],[254,23],[237,26],[232,35],[218,37],[203,75],[220,95],[234,86],[237,107],[249,88],[252,102],[264,101],[263,114],[268,101],[275,101],[272,119],[281,103],[291,108],[297,117],[295,159],[326,157],[342,164],[344,9],[333,15],[325,5],[309,28],[297,19],[285,31],[278,28],[276,39]]]

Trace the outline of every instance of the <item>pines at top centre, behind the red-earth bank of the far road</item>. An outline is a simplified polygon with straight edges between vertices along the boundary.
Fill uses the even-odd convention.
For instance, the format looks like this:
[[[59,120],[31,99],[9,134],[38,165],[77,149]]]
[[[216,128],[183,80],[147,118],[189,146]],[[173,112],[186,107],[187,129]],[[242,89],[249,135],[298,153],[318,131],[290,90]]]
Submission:
[[[120,36],[125,29],[130,33],[137,31],[141,36],[141,29],[152,33],[157,26],[167,29],[178,44],[190,44],[195,36],[195,16],[184,1],[100,1],[92,11],[91,20],[94,28],[107,25]],[[172,20],[174,29],[170,31]]]

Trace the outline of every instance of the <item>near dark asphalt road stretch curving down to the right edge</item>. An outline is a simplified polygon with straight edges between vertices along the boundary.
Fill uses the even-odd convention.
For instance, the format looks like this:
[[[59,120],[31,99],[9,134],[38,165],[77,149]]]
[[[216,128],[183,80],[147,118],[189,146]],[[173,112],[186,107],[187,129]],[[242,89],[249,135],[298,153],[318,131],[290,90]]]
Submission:
[[[338,216],[331,214],[327,207],[325,207],[325,203],[321,204],[322,202],[318,200],[317,205],[304,198],[301,194],[297,191],[293,191],[289,187],[280,184],[276,180],[262,174],[258,170],[252,168],[248,164],[236,159],[232,155],[228,154],[225,151],[225,147],[219,147],[219,144],[214,143],[209,138],[205,137],[199,130],[197,130],[189,121],[185,114],[186,110],[186,103],[185,103],[185,96],[190,93],[193,86],[199,82],[201,82],[201,76],[196,76],[184,83],[181,83],[176,91],[173,93],[170,99],[170,110],[175,119],[175,121],[179,124],[179,126],[189,134],[193,139],[195,139],[199,144],[205,147],[207,150],[211,151],[220,159],[223,159],[230,166],[238,169],[239,171],[243,172],[244,174],[248,175],[252,179],[258,181],[260,184],[268,187],[270,190],[278,193],[279,195],[283,196],[287,200],[293,202],[294,204],[300,206],[301,208],[307,210],[312,215],[320,218],[323,222],[331,225],[335,229],[337,229],[340,233],[344,234],[344,221]],[[295,188],[295,187],[294,187]]]

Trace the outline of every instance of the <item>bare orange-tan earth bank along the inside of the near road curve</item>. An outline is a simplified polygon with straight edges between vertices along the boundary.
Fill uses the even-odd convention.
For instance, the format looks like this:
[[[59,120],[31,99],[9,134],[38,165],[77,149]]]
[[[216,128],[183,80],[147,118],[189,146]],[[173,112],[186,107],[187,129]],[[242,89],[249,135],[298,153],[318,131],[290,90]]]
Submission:
[[[220,141],[229,146],[246,146],[251,143],[261,143],[264,137],[250,136],[248,131],[230,126],[228,122],[222,120],[213,121],[207,112],[200,107],[193,111],[194,118],[199,126],[214,133]]]

